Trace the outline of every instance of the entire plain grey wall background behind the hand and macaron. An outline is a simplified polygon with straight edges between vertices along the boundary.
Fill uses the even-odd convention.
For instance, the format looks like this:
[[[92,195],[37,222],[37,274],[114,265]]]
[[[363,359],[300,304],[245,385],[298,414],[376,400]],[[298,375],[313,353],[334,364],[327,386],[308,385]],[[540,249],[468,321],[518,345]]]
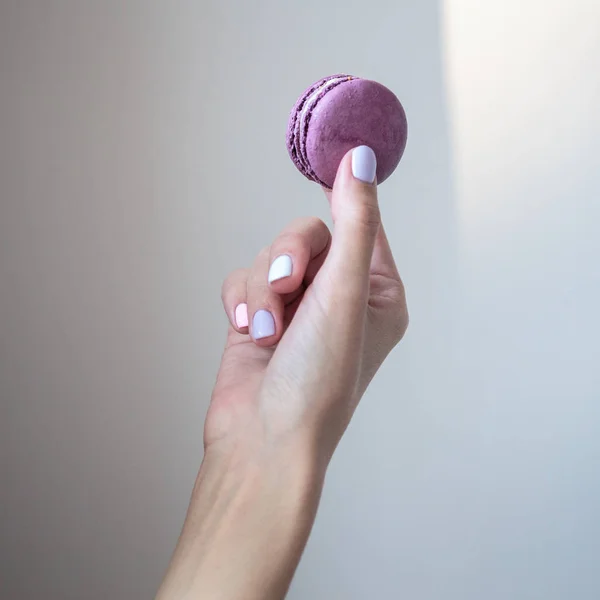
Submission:
[[[293,13],[292,16],[288,16]],[[0,596],[149,598],[297,95],[392,88],[404,343],[290,598],[600,596],[597,0],[0,2]]]

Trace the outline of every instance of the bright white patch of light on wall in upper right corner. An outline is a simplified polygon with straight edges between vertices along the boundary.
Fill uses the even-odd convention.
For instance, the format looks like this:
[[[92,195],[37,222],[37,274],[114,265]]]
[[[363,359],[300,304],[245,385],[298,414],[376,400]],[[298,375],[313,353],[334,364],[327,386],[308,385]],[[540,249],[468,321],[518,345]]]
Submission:
[[[598,163],[598,0],[445,0],[462,235],[489,239],[568,197]]]

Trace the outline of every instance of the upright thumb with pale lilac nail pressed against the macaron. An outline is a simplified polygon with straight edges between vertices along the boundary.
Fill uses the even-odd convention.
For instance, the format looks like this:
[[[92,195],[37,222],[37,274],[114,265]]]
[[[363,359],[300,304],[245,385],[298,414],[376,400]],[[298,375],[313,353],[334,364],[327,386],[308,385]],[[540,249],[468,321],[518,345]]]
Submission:
[[[377,159],[368,146],[348,152],[338,168],[331,202],[334,230],[322,270],[345,303],[366,300],[375,240],[381,224]],[[337,294],[336,294],[337,295]]]

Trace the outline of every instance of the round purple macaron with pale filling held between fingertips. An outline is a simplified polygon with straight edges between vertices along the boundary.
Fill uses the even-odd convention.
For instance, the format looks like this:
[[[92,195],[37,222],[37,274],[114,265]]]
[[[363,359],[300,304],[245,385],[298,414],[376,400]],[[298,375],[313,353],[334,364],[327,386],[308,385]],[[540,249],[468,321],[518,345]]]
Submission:
[[[369,146],[377,157],[377,183],[382,183],[398,166],[407,133],[406,113],[393,92],[368,79],[331,75],[298,98],[287,148],[305,177],[331,189],[344,155]]]

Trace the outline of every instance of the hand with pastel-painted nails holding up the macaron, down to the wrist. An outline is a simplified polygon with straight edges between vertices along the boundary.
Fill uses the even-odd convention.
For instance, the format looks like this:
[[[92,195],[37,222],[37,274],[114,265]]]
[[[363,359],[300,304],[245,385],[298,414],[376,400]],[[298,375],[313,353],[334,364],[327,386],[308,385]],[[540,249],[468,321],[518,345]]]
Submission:
[[[358,154],[369,159],[369,152]],[[223,285],[230,329],[207,447],[247,452],[303,436],[318,440],[327,461],[406,331],[404,287],[380,222],[377,186],[353,175],[351,152],[327,195],[333,238],[319,219],[298,219]]]

